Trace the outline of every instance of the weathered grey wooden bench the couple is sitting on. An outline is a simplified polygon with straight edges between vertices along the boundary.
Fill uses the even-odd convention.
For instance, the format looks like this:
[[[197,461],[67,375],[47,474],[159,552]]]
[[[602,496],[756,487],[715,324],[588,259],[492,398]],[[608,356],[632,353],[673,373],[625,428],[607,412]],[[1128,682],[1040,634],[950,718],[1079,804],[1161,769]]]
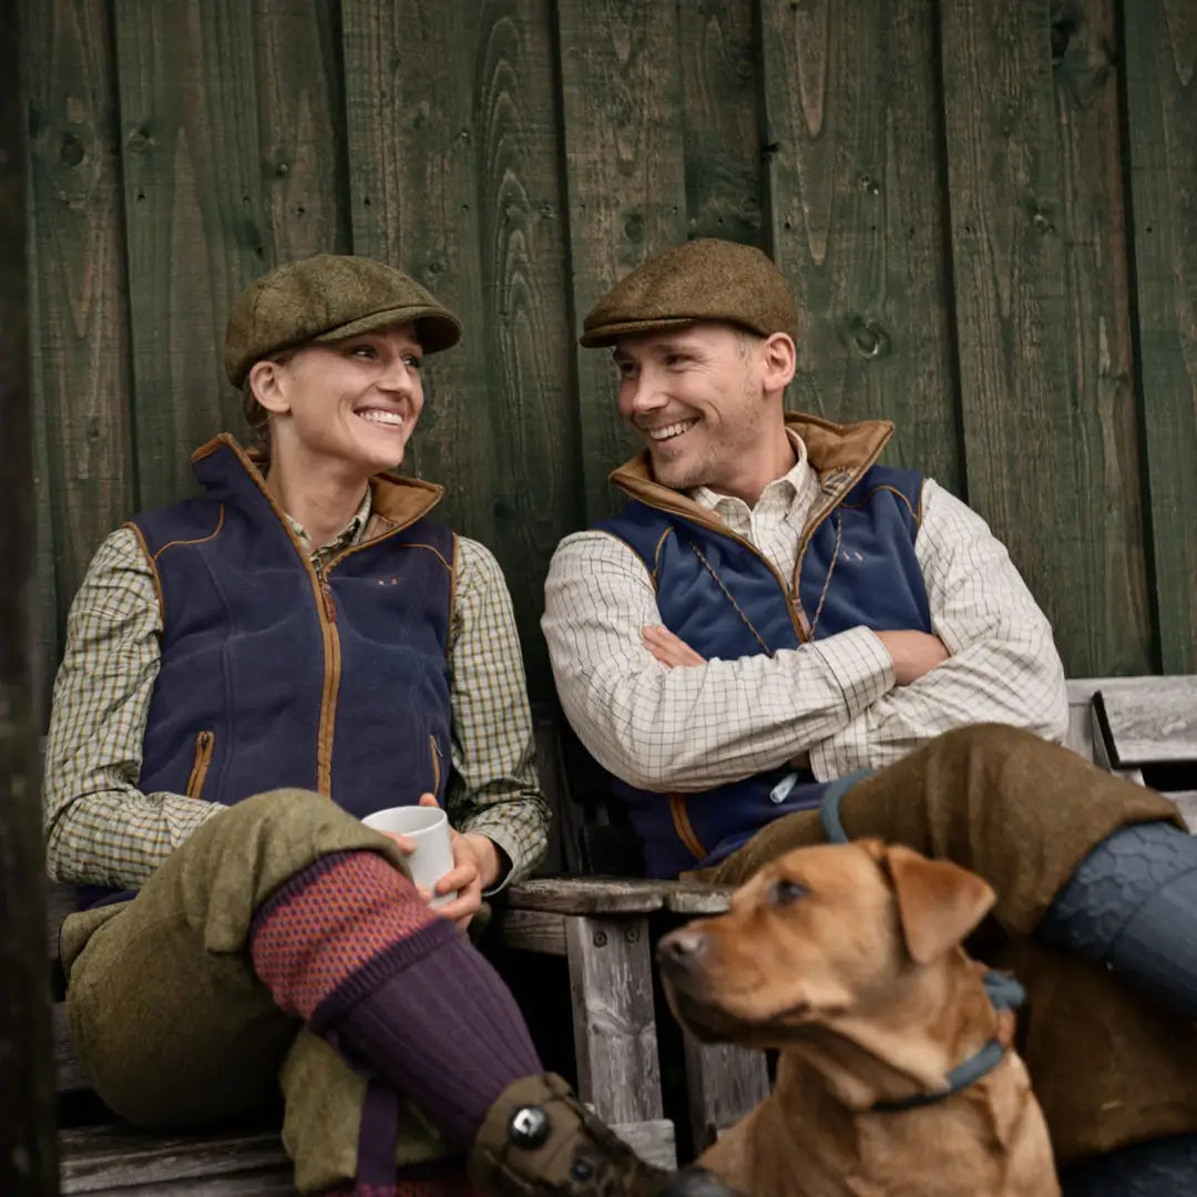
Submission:
[[[1197,678],[1069,682],[1068,745],[1088,759],[1163,788],[1197,826]],[[566,839],[558,859],[576,861],[579,831],[570,808],[551,712],[539,711],[542,784],[560,812]],[[69,897],[51,894],[50,954]],[[682,882],[542,877],[511,887],[500,911],[503,943],[517,952],[563,958],[578,1089],[600,1116],[646,1159],[673,1165],[674,1122],[666,1117],[654,996],[651,931],[725,909],[728,892]],[[563,995],[563,1010],[565,995]],[[683,1037],[686,1140],[701,1150],[767,1092],[764,1055]],[[116,1123],[90,1094],[55,1008],[57,1089],[62,1111],[62,1192],[138,1197],[292,1195],[291,1168],[273,1128],[187,1136],[147,1135]]]

